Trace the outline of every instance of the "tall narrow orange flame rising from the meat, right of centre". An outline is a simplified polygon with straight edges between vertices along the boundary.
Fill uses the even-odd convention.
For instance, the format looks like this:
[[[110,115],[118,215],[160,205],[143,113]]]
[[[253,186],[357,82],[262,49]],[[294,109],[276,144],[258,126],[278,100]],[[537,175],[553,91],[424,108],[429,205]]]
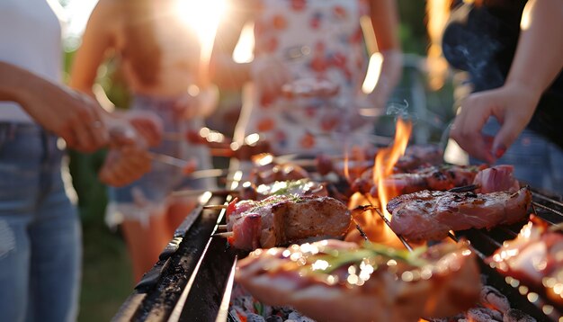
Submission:
[[[375,165],[373,166],[373,183],[378,187],[378,199],[380,208],[387,219],[391,219],[386,206],[391,198],[397,197],[398,192],[395,186],[389,186],[385,183],[385,179],[393,173],[393,166],[397,164],[398,158],[405,155],[408,139],[413,130],[413,124],[410,121],[398,119],[395,139],[389,148],[381,149],[375,157]]]

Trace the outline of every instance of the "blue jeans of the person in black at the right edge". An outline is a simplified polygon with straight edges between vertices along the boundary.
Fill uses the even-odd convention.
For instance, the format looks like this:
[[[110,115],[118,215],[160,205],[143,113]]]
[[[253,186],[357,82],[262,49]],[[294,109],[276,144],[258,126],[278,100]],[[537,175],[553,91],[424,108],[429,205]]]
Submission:
[[[492,136],[498,129],[498,122],[491,118],[483,132]],[[470,163],[475,165],[482,162],[470,159]],[[518,180],[534,188],[563,195],[563,151],[532,130],[523,130],[496,164],[514,165],[514,177]]]

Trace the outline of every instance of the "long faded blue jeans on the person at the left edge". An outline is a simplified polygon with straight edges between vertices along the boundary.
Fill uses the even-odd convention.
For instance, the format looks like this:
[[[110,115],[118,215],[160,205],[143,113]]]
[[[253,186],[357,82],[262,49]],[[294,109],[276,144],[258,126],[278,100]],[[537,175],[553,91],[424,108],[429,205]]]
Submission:
[[[74,321],[81,230],[57,138],[0,123],[0,321]]]

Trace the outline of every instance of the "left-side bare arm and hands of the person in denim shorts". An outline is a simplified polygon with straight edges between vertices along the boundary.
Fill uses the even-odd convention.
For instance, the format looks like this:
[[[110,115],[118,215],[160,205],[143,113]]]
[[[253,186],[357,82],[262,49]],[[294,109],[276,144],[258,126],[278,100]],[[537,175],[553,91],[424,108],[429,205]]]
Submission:
[[[98,68],[103,64],[106,54],[115,49],[119,17],[127,14],[120,5],[110,0],[101,0],[96,4],[71,70],[70,85],[99,101],[106,101],[107,97],[101,86],[96,85]],[[158,144],[162,134],[159,120],[153,117],[117,112],[104,115],[103,121],[112,134],[112,144],[98,174],[103,183],[122,186],[139,179],[150,170],[147,145]]]

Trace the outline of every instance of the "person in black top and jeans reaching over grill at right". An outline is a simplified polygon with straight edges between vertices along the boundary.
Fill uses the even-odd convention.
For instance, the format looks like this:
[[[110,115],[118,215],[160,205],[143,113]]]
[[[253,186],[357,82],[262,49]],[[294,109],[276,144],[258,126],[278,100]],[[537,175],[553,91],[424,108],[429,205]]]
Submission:
[[[451,138],[471,157],[514,165],[525,183],[563,192],[563,2],[453,7],[442,50],[468,72],[472,93],[461,100]]]

